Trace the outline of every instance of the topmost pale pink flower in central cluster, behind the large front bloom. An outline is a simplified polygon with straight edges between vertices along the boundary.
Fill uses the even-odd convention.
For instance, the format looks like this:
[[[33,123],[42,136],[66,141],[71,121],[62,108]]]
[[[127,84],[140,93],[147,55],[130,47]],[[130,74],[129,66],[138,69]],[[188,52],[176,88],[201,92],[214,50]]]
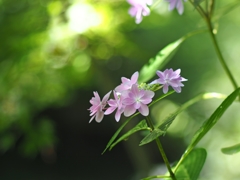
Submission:
[[[118,93],[122,93],[123,91],[126,91],[126,90],[131,89],[131,88],[132,88],[132,85],[137,83],[138,76],[139,76],[139,73],[138,73],[138,72],[135,72],[135,73],[131,76],[131,79],[122,77],[122,78],[121,78],[122,84],[120,84],[119,86],[117,86],[117,87],[115,88],[115,90],[116,90]]]

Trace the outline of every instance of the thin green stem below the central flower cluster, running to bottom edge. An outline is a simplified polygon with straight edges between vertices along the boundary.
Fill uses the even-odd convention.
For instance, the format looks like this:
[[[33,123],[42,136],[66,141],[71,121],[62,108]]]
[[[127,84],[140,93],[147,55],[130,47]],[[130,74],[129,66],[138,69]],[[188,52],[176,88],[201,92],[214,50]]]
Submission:
[[[150,127],[152,130],[154,130],[154,126],[153,126],[152,121],[151,121],[151,119],[149,118],[149,116],[147,116],[146,119],[147,119],[147,123],[148,123],[149,127]],[[167,159],[167,156],[166,156],[166,154],[165,154],[165,152],[164,152],[164,150],[163,150],[163,147],[162,147],[162,144],[161,144],[159,138],[156,138],[155,141],[156,141],[156,143],[157,143],[157,146],[158,146],[158,149],[159,149],[159,151],[160,151],[160,154],[162,155],[163,161],[165,162],[165,164],[166,164],[166,166],[167,166],[168,172],[169,172],[172,180],[177,180],[176,177],[175,177],[175,174],[173,173],[173,171],[172,171],[172,169],[171,169],[170,163],[169,163],[169,161],[168,161],[168,159]]]

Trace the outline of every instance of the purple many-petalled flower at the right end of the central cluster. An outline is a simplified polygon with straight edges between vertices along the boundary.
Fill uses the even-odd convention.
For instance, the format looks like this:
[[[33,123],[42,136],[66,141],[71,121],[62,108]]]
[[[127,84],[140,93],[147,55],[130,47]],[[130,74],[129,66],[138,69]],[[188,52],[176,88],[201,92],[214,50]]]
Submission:
[[[153,81],[151,84],[162,84],[164,94],[168,92],[168,86],[172,86],[177,93],[180,93],[181,87],[184,86],[181,82],[187,81],[187,79],[180,76],[180,72],[181,69],[177,69],[176,71],[173,71],[172,69],[166,69],[164,72],[157,71],[159,79]]]

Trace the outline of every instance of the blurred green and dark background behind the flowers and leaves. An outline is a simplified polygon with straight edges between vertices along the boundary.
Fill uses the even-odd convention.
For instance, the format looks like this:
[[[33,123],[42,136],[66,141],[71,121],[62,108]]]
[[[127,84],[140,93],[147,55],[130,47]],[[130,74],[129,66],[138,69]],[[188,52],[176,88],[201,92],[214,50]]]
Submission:
[[[216,13],[232,2],[217,1]],[[135,180],[164,173],[155,144],[138,147],[141,134],[101,155],[125,119],[117,123],[114,116],[106,116],[100,124],[89,124],[87,109],[93,91],[103,97],[164,46],[206,28],[191,4],[184,5],[180,16],[160,1],[136,25],[125,1],[0,0],[0,178]],[[214,23],[238,84],[239,10]],[[165,68],[180,68],[188,81],[181,94],[151,109],[156,121],[200,92],[233,91],[208,33],[187,39]],[[171,163],[220,103],[197,103],[176,119],[161,138]],[[200,179],[239,179],[240,155],[220,152],[240,142],[239,117],[239,104],[234,104],[200,142],[208,150]]]

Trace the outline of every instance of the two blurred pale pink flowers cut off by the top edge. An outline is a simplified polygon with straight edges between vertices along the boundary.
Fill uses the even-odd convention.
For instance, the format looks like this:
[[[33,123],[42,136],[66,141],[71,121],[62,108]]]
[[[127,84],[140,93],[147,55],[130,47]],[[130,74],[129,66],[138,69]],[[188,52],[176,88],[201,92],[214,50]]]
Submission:
[[[177,9],[178,13],[181,15],[184,11],[183,0],[166,0],[169,3],[169,10],[172,11],[174,8]],[[186,0],[184,0],[186,1]],[[150,9],[148,6],[152,5],[152,0],[127,0],[131,5],[128,13],[135,17],[135,22],[139,24],[142,21],[143,16],[148,16],[150,14]]]

